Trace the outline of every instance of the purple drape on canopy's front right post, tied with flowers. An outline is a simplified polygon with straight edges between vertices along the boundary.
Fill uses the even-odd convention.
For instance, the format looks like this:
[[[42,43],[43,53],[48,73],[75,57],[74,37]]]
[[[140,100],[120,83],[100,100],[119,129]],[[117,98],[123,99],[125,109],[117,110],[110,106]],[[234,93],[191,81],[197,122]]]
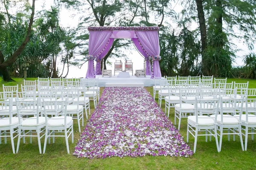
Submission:
[[[136,35],[144,50],[151,57],[160,55],[158,31],[136,31]],[[153,61],[151,78],[154,77],[162,77],[159,66],[159,60]]]

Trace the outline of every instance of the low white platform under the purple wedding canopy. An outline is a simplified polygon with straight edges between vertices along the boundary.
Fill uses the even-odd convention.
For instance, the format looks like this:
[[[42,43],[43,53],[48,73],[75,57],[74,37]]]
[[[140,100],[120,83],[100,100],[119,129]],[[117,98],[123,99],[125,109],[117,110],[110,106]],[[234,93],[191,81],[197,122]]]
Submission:
[[[132,84],[141,84],[143,83],[144,86],[154,86],[154,79],[150,78],[151,76],[146,76],[146,77],[136,77],[136,76],[131,76],[130,77],[117,77],[113,76],[112,77],[102,77],[102,75],[96,75],[96,78],[99,78],[99,87],[105,87],[106,83],[107,86],[112,84],[123,84],[122,87],[125,87],[124,84],[127,84],[127,87],[135,87],[135,86],[130,86]]]

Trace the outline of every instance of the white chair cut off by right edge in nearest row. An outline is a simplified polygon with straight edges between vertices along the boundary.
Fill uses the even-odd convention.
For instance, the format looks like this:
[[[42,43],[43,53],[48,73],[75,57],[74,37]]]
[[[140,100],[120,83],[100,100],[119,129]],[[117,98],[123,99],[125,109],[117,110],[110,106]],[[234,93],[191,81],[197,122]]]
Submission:
[[[256,99],[248,99],[245,97],[245,114],[241,115],[241,130],[244,131],[242,135],[245,136],[244,150],[247,150],[248,135],[251,135],[253,140],[253,135],[256,134]],[[236,117],[239,120],[239,117]],[[244,128],[243,128],[244,127]],[[251,132],[249,132],[249,130]]]

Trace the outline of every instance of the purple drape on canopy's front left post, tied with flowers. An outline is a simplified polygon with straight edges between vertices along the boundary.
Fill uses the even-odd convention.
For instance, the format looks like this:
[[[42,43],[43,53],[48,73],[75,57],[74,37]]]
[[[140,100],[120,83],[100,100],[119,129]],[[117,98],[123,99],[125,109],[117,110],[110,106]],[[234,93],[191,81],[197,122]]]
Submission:
[[[88,47],[89,55],[98,57],[100,54],[102,54],[103,51],[105,51],[105,46],[110,40],[111,33],[111,31],[90,31]],[[88,61],[86,78],[95,78],[93,59],[89,59]]]

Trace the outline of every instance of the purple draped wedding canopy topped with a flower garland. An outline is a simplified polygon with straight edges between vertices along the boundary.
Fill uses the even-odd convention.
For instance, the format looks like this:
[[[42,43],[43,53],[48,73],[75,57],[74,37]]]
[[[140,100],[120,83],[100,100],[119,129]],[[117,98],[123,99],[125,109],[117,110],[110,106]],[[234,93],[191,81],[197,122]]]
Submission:
[[[146,75],[151,75],[151,78],[161,77],[158,30],[159,27],[88,27],[90,35],[89,55],[86,57],[88,59],[86,78],[101,75],[101,61],[108,54],[114,39],[126,38],[134,42],[137,50],[145,58]],[[96,61],[95,71],[94,59]],[[152,67],[150,59],[152,59]]]

